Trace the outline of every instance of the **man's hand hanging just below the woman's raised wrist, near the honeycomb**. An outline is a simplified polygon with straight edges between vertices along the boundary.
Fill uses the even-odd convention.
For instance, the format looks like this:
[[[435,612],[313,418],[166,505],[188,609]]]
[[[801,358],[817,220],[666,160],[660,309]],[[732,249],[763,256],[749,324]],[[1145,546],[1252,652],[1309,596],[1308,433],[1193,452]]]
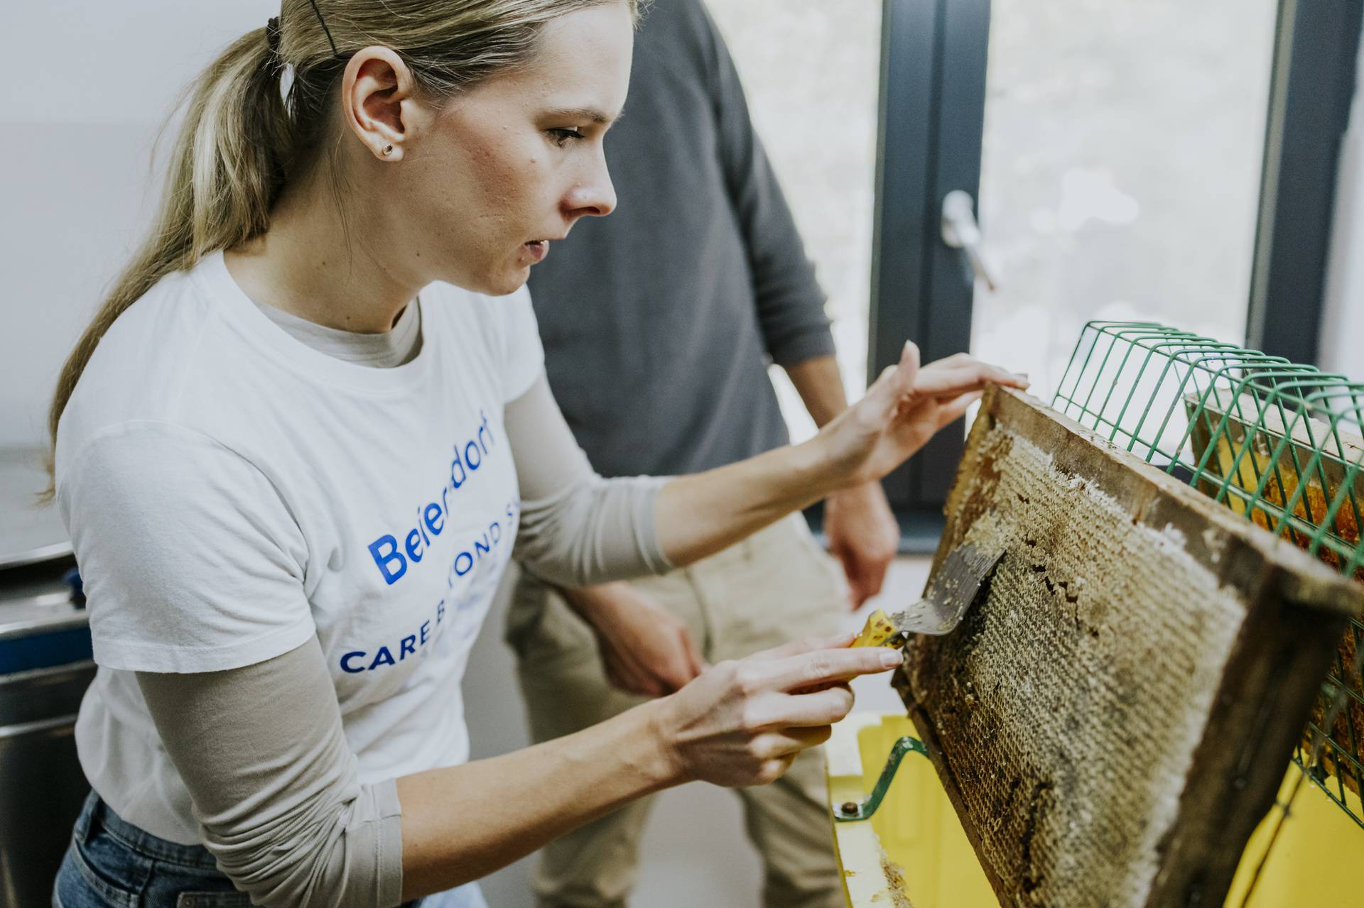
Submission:
[[[854,485],[824,502],[829,551],[843,563],[853,608],[881,592],[885,571],[900,545],[900,525],[880,483]]]

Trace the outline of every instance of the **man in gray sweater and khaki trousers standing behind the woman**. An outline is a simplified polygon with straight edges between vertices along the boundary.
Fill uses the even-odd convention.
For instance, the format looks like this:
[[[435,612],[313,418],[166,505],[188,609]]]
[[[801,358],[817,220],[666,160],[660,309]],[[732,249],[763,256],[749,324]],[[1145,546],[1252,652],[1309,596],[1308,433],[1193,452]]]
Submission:
[[[555,397],[603,476],[693,473],[787,443],[768,380],[820,425],[844,406],[825,296],[698,0],[655,0],[625,116],[606,143],[618,210],[587,218],[531,274]],[[880,485],[825,504],[840,566],[799,515],[689,569],[557,590],[524,575],[507,638],[546,740],[667,694],[707,661],[836,631],[874,594],[898,526]],[[767,905],[840,907],[821,757],[742,789]],[[623,905],[648,814],[632,803],[542,852],[542,905]]]

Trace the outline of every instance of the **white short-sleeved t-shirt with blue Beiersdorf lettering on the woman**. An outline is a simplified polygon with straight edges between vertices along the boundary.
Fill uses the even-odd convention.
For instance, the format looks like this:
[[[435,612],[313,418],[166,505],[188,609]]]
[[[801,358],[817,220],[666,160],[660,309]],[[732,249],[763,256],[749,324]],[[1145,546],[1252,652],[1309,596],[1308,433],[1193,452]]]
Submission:
[[[370,368],[291,337],[216,254],[86,367],[56,449],[100,665],[76,746],[147,832],[201,840],[135,671],[237,668],[316,634],[361,783],[468,759],[460,682],[520,513],[502,412],[543,350],[525,289],[420,299],[420,353]]]

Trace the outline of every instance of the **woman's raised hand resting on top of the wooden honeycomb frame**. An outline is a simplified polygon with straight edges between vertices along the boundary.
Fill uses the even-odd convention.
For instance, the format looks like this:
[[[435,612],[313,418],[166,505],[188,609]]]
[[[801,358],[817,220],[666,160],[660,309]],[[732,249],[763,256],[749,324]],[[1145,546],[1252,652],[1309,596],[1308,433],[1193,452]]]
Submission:
[[[822,447],[840,487],[881,479],[956,421],[988,382],[1026,389],[1027,376],[958,353],[919,367],[919,348],[906,342],[866,395],[828,423],[812,443]]]

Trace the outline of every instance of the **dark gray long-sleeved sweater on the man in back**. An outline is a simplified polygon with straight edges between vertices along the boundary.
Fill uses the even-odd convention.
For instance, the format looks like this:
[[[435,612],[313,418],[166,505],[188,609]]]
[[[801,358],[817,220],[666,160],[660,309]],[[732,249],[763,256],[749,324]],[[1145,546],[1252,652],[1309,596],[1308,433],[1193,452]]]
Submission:
[[[603,476],[694,473],[784,444],[767,365],[833,353],[825,294],[698,0],[651,4],[606,157],[617,210],[531,270],[578,443]]]

